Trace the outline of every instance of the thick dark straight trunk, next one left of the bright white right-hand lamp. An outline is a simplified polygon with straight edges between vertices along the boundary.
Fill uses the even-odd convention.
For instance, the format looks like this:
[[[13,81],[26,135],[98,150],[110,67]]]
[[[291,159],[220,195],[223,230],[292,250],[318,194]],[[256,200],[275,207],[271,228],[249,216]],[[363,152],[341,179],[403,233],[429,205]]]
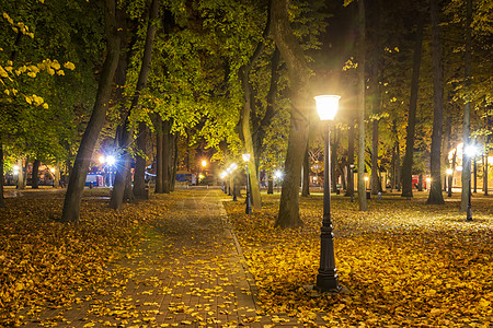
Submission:
[[[442,131],[444,121],[444,85],[442,45],[439,34],[439,8],[438,0],[431,0],[432,10],[432,52],[433,52],[433,132],[432,132],[432,189],[429,190],[427,203],[445,203],[442,194]]]

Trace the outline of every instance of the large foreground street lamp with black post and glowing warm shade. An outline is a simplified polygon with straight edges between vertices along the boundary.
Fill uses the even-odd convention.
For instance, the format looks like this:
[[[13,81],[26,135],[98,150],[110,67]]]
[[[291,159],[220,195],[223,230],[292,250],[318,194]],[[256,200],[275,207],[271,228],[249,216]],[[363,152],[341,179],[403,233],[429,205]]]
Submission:
[[[323,169],[323,220],[320,229],[320,267],[317,274],[316,289],[321,292],[340,292],[342,286],[339,284],[337,269],[335,268],[334,255],[334,234],[332,233],[331,221],[331,189],[330,189],[330,138],[332,121],[337,113],[337,95],[321,95],[314,97],[317,102],[317,112],[321,120],[326,120],[326,140],[324,147],[324,169]]]

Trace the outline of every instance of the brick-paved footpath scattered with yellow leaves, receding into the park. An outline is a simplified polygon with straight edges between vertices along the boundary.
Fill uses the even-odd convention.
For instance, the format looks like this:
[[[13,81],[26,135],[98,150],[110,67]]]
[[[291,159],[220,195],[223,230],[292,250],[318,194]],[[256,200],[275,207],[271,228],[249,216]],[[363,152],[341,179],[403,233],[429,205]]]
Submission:
[[[41,311],[24,327],[272,327],[259,316],[223,196],[182,192],[140,249],[113,265],[110,283]]]

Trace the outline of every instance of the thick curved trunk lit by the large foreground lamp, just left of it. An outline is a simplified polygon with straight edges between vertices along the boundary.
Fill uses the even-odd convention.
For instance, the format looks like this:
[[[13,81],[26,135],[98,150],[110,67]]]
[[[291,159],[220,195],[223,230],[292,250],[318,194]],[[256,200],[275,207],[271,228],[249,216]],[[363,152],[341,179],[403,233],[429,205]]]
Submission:
[[[272,2],[272,32],[280,56],[288,68],[290,81],[290,124],[285,162],[285,178],[280,194],[279,213],[275,226],[296,227],[303,225],[299,218],[299,181],[302,156],[308,140],[308,112],[314,102],[308,98],[310,70],[303,50],[289,25],[289,0]],[[310,106],[307,108],[307,106]]]

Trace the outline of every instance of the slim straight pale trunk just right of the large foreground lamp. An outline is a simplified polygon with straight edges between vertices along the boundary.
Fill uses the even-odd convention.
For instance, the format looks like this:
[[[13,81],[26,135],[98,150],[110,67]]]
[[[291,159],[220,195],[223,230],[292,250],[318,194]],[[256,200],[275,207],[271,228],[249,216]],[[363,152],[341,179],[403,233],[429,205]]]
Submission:
[[[358,1],[359,14],[359,60],[358,60],[358,204],[359,211],[368,211],[365,188],[365,52],[366,52],[366,19],[365,19],[365,1]]]

